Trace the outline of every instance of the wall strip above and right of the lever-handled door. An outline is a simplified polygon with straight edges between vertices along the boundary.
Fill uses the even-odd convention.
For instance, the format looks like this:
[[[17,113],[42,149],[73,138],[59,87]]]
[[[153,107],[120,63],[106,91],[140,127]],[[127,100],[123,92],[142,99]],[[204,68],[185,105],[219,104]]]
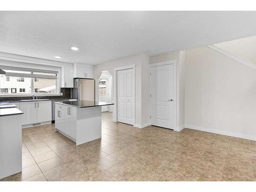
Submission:
[[[185,125],[185,51],[176,51],[164,53],[150,57],[150,64],[163,62],[168,60],[177,60],[176,68],[176,127],[175,130],[180,131]]]

